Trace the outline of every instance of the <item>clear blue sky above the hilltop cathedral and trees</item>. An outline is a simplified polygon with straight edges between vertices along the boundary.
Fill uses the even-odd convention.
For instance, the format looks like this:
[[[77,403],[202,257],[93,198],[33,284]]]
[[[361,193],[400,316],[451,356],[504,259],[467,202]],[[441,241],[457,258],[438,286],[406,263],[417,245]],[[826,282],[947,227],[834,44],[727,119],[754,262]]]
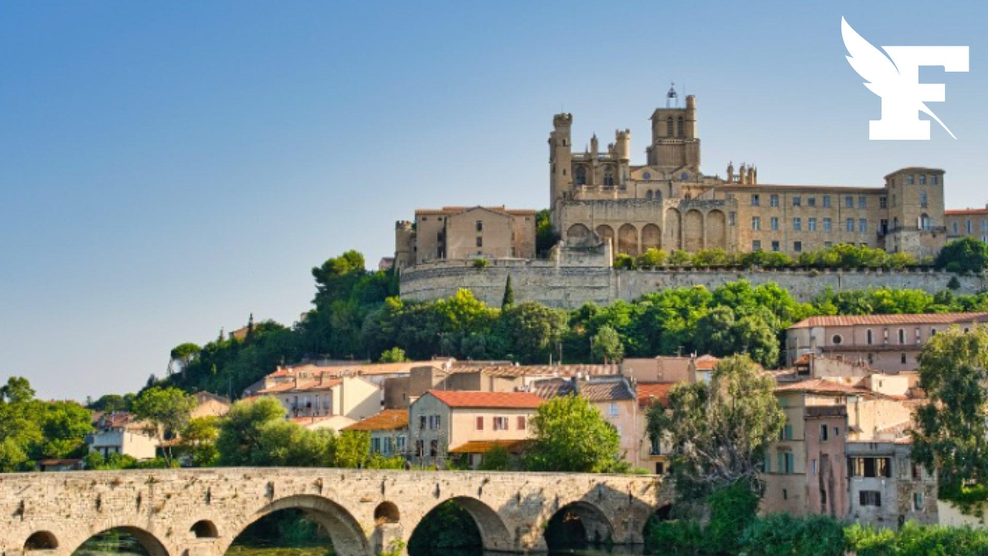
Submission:
[[[928,141],[870,141],[875,46],[970,46]],[[947,170],[980,207],[988,7],[932,2],[0,3],[0,380],[139,389],[220,327],[291,324],[310,269],[375,266],[416,208],[548,204],[552,115],[577,147],[696,94],[702,170],[880,186]],[[924,119],[926,117],[924,116]]]

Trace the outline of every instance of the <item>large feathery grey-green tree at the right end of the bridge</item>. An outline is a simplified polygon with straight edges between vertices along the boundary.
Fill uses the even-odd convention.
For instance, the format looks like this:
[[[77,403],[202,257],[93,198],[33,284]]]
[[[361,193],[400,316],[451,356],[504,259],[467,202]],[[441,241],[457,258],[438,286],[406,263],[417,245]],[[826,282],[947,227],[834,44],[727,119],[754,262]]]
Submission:
[[[667,404],[648,413],[648,433],[674,446],[672,472],[686,498],[743,481],[757,490],[766,444],[779,437],[785,414],[775,381],[746,355],[721,360],[709,383],[680,384]]]

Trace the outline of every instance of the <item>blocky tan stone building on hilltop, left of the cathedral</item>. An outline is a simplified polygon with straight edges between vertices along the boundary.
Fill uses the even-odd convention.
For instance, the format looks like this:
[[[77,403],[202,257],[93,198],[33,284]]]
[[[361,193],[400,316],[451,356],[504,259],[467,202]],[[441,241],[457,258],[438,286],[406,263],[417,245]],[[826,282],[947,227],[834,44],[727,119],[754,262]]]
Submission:
[[[535,211],[502,207],[419,209],[395,225],[394,263],[468,258],[535,258]]]

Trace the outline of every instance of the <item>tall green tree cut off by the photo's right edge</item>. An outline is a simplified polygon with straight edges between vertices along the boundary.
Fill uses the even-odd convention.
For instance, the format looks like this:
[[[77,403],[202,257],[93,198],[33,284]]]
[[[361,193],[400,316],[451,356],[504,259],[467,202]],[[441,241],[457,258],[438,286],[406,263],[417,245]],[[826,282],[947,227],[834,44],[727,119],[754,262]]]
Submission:
[[[988,486],[988,328],[951,326],[927,340],[919,357],[928,402],[916,411],[913,458],[939,475],[942,497]]]

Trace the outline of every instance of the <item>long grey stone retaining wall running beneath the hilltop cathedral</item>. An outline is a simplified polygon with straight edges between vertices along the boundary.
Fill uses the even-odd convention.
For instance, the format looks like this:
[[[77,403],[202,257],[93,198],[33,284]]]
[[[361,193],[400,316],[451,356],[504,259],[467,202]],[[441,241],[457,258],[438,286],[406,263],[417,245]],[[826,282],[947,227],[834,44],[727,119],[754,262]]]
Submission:
[[[450,260],[404,269],[401,297],[431,301],[466,288],[488,305],[500,306],[509,275],[516,303],[536,301],[564,309],[575,309],[586,302],[607,305],[618,299],[630,301],[665,288],[702,285],[713,289],[738,280],[754,285],[778,283],[799,301],[809,301],[827,287],[841,291],[887,286],[933,294],[946,289],[954,276],[933,270],[615,270],[597,264],[543,260],[494,260],[487,268],[475,269],[468,261]],[[957,279],[958,294],[974,294],[988,288],[988,281],[980,276]]]

